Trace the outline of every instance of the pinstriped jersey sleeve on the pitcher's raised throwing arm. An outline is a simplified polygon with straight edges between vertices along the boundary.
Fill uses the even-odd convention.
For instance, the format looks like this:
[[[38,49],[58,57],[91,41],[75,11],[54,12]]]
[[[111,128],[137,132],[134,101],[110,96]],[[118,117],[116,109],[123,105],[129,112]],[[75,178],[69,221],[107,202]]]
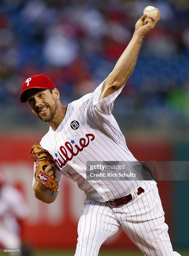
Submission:
[[[88,113],[95,117],[106,128],[111,125],[114,100],[123,90],[123,87],[111,95],[99,100],[105,80],[95,89],[88,101]]]

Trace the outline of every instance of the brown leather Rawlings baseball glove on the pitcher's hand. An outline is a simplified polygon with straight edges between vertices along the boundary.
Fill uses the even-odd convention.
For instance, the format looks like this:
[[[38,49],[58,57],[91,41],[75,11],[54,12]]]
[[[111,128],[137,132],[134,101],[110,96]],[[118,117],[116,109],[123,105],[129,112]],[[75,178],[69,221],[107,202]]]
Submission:
[[[31,150],[32,157],[36,162],[35,179],[41,182],[44,186],[52,192],[58,189],[58,182],[56,181],[55,163],[47,150],[44,150],[40,144],[34,144]],[[31,154],[30,153],[30,154]],[[54,179],[44,172],[45,168],[50,165],[54,171]]]

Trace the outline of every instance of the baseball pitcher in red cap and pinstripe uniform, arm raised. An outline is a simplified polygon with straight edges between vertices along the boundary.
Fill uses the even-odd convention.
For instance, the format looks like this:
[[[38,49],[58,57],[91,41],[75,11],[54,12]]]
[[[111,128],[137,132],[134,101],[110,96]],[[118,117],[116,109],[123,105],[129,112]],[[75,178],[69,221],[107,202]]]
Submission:
[[[32,112],[50,126],[40,144],[32,148],[35,196],[53,202],[63,175],[77,182],[86,195],[75,256],[98,255],[101,244],[121,229],[144,255],[180,255],[172,249],[157,184],[132,164],[137,159],[111,113],[134,69],[144,37],[160,18],[157,11],[156,18],[145,14],[137,21],[127,48],[94,92],[64,106],[58,89],[44,74],[23,83],[20,101],[28,102]],[[123,164],[123,178],[108,176],[106,166],[114,162]],[[102,166],[104,176],[97,172]]]

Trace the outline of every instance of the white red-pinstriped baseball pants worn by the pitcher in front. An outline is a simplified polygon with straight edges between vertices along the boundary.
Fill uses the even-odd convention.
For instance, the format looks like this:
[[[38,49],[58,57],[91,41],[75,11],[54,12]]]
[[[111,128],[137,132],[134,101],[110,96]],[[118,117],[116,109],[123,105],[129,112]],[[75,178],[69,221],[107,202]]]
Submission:
[[[101,244],[121,229],[146,256],[180,255],[172,249],[156,182],[141,187],[144,193],[134,193],[134,200],[122,207],[87,200],[78,223],[75,256],[97,256]]]

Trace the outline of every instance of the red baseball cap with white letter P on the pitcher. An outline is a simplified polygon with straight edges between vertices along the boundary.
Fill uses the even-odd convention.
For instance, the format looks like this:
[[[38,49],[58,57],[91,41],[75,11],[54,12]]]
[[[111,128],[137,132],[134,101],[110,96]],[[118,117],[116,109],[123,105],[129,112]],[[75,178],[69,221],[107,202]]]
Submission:
[[[39,89],[54,89],[53,81],[45,76],[44,74],[35,75],[26,79],[26,81],[22,85],[22,93],[20,94],[20,102],[26,102],[26,92],[32,88]]]

